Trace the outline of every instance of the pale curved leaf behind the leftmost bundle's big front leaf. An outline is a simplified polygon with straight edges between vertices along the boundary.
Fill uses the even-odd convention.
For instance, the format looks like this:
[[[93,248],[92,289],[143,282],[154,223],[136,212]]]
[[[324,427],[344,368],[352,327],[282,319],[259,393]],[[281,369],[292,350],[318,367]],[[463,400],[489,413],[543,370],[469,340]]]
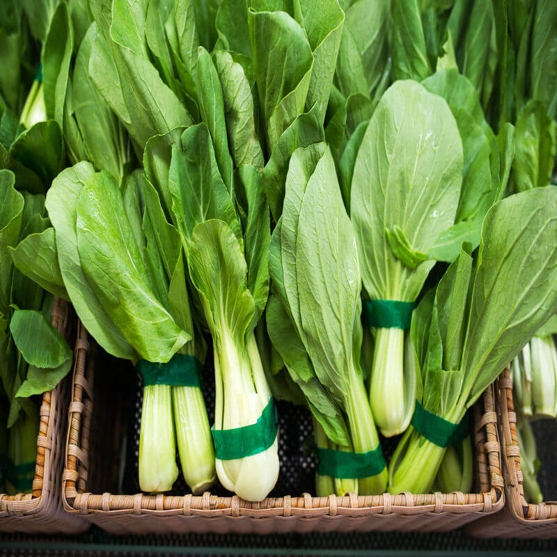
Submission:
[[[56,233],[58,264],[75,311],[104,350],[122,359],[136,359],[135,350],[102,308],[81,268],[77,248],[77,201],[95,171],[88,162],[66,168],[52,182],[46,206]]]

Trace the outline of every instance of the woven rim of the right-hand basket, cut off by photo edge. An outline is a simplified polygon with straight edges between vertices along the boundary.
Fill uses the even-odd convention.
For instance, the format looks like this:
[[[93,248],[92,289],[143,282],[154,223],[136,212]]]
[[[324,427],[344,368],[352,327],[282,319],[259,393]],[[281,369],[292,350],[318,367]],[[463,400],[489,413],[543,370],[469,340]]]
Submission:
[[[557,524],[557,503],[528,503],[524,497],[523,475],[520,466],[520,448],[517,437],[517,414],[512,399],[512,379],[508,369],[496,383],[499,426],[501,427],[501,453],[505,473],[505,491],[508,512],[524,526]]]

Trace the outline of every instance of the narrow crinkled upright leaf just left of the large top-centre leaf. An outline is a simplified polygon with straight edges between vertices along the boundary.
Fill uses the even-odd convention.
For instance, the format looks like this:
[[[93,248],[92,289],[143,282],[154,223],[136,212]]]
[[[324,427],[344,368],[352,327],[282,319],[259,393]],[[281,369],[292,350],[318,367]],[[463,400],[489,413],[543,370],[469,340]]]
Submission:
[[[237,167],[250,164],[263,168],[265,161],[256,133],[251,86],[244,69],[228,52],[214,52],[224,100],[228,143]]]

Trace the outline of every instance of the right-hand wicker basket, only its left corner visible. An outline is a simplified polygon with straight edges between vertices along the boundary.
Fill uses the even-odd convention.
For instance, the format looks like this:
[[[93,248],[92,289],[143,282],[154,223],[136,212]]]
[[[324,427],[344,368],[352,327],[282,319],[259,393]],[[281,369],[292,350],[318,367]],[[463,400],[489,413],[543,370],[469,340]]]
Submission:
[[[496,382],[496,402],[508,503],[503,512],[471,525],[469,533],[482,538],[557,538],[557,502],[530,505],[524,499],[517,414],[508,370]]]

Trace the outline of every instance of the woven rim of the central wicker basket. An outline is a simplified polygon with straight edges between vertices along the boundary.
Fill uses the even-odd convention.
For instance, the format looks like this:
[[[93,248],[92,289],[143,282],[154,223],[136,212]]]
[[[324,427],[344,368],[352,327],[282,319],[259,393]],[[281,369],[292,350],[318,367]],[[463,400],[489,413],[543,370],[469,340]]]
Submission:
[[[81,439],[82,427],[89,427],[93,414],[93,378],[95,343],[90,339],[85,327],[79,323],[75,352],[72,402],[69,410],[69,427],[63,472],[63,504],[70,512],[81,515],[155,515],[170,517],[205,517],[230,519],[274,517],[281,519],[311,520],[317,517],[329,518],[377,515],[441,515],[443,512],[466,513],[483,512],[489,514],[503,508],[504,489],[501,473],[499,433],[494,407],[493,386],[489,386],[481,402],[474,407],[475,439],[478,449],[480,493],[463,494],[411,494],[392,495],[385,493],[374,496],[330,495],[315,497],[304,493],[300,497],[286,495],[267,498],[260,502],[249,502],[237,495],[220,497],[205,492],[201,496],[187,494],[170,496],[164,494],[134,495],[93,494],[86,492],[88,463],[88,439]],[[480,405],[482,408],[480,408]],[[82,489],[80,489],[81,486]]]

